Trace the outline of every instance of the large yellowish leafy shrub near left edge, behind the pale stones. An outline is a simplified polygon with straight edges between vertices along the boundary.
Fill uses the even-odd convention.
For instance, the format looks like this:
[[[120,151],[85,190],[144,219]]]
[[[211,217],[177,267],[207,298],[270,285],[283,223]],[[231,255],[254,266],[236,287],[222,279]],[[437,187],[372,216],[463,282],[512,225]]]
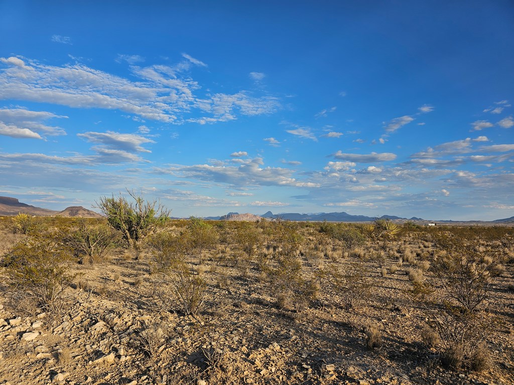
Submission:
[[[59,310],[70,272],[70,254],[52,235],[16,244],[4,258],[14,290],[45,310]]]

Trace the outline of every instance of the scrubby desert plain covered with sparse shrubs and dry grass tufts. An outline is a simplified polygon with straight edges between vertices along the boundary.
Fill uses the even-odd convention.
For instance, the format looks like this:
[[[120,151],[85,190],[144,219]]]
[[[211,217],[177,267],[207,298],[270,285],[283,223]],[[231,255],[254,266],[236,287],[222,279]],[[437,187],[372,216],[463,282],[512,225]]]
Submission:
[[[145,241],[134,260],[134,246],[113,241],[105,221],[48,218],[40,234],[26,235],[2,222],[12,238],[0,270],[0,304],[10,313],[0,317],[22,315],[23,330],[42,319],[38,344],[59,337],[48,357],[70,376],[83,355],[102,360],[87,365],[99,379],[106,368],[125,378],[124,360],[155,383],[230,376],[264,384],[296,372],[301,381],[355,382],[364,373],[374,378],[366,365],[391,383],[412,371],[427,385],[455,383],[461,374],[483,383],[507,378],[511,228],[406,226],[400,238],[386,235],[394,226],[377,223],[191,218],[139,237]],[[88,237],[97,236],[106,241],[89,247]],[[48,318],[37,318],[42,312]],[[14,329],[0,333],[18,341]],[[0,352],[4,345],[9,362],[40,354],[7,339]],[[354,376],[350,362],[362,372]]]

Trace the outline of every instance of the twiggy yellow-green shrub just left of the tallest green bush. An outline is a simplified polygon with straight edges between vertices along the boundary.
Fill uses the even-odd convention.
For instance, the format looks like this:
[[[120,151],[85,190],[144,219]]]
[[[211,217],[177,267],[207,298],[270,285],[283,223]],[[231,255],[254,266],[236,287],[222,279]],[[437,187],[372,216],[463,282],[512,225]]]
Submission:
[[[116,233],[103,222],[79,220],[78,227],[62,234],[62,242],[83,261],[95,263],[112,247]]]

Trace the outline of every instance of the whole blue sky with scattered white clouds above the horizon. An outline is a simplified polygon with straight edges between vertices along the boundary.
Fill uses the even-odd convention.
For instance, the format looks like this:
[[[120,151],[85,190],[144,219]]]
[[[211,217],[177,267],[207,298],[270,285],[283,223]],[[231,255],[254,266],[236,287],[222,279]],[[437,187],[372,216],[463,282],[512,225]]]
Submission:
[[[0,195],[514,215],[511,2],[276,3],[0,2]]]

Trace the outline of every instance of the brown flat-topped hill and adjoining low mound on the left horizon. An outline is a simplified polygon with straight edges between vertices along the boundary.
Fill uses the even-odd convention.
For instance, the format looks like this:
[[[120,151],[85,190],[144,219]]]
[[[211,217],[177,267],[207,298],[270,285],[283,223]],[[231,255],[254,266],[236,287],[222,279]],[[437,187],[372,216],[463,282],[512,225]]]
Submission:
[[[0,197],[0,216],[15,216],[19,213],[29,214],[40,217],[84,217],[84,218],[100,218],[100,214],[88,210],[82,206],[67,207],[62,211],[49,210],[21,203],[16,198]]]

